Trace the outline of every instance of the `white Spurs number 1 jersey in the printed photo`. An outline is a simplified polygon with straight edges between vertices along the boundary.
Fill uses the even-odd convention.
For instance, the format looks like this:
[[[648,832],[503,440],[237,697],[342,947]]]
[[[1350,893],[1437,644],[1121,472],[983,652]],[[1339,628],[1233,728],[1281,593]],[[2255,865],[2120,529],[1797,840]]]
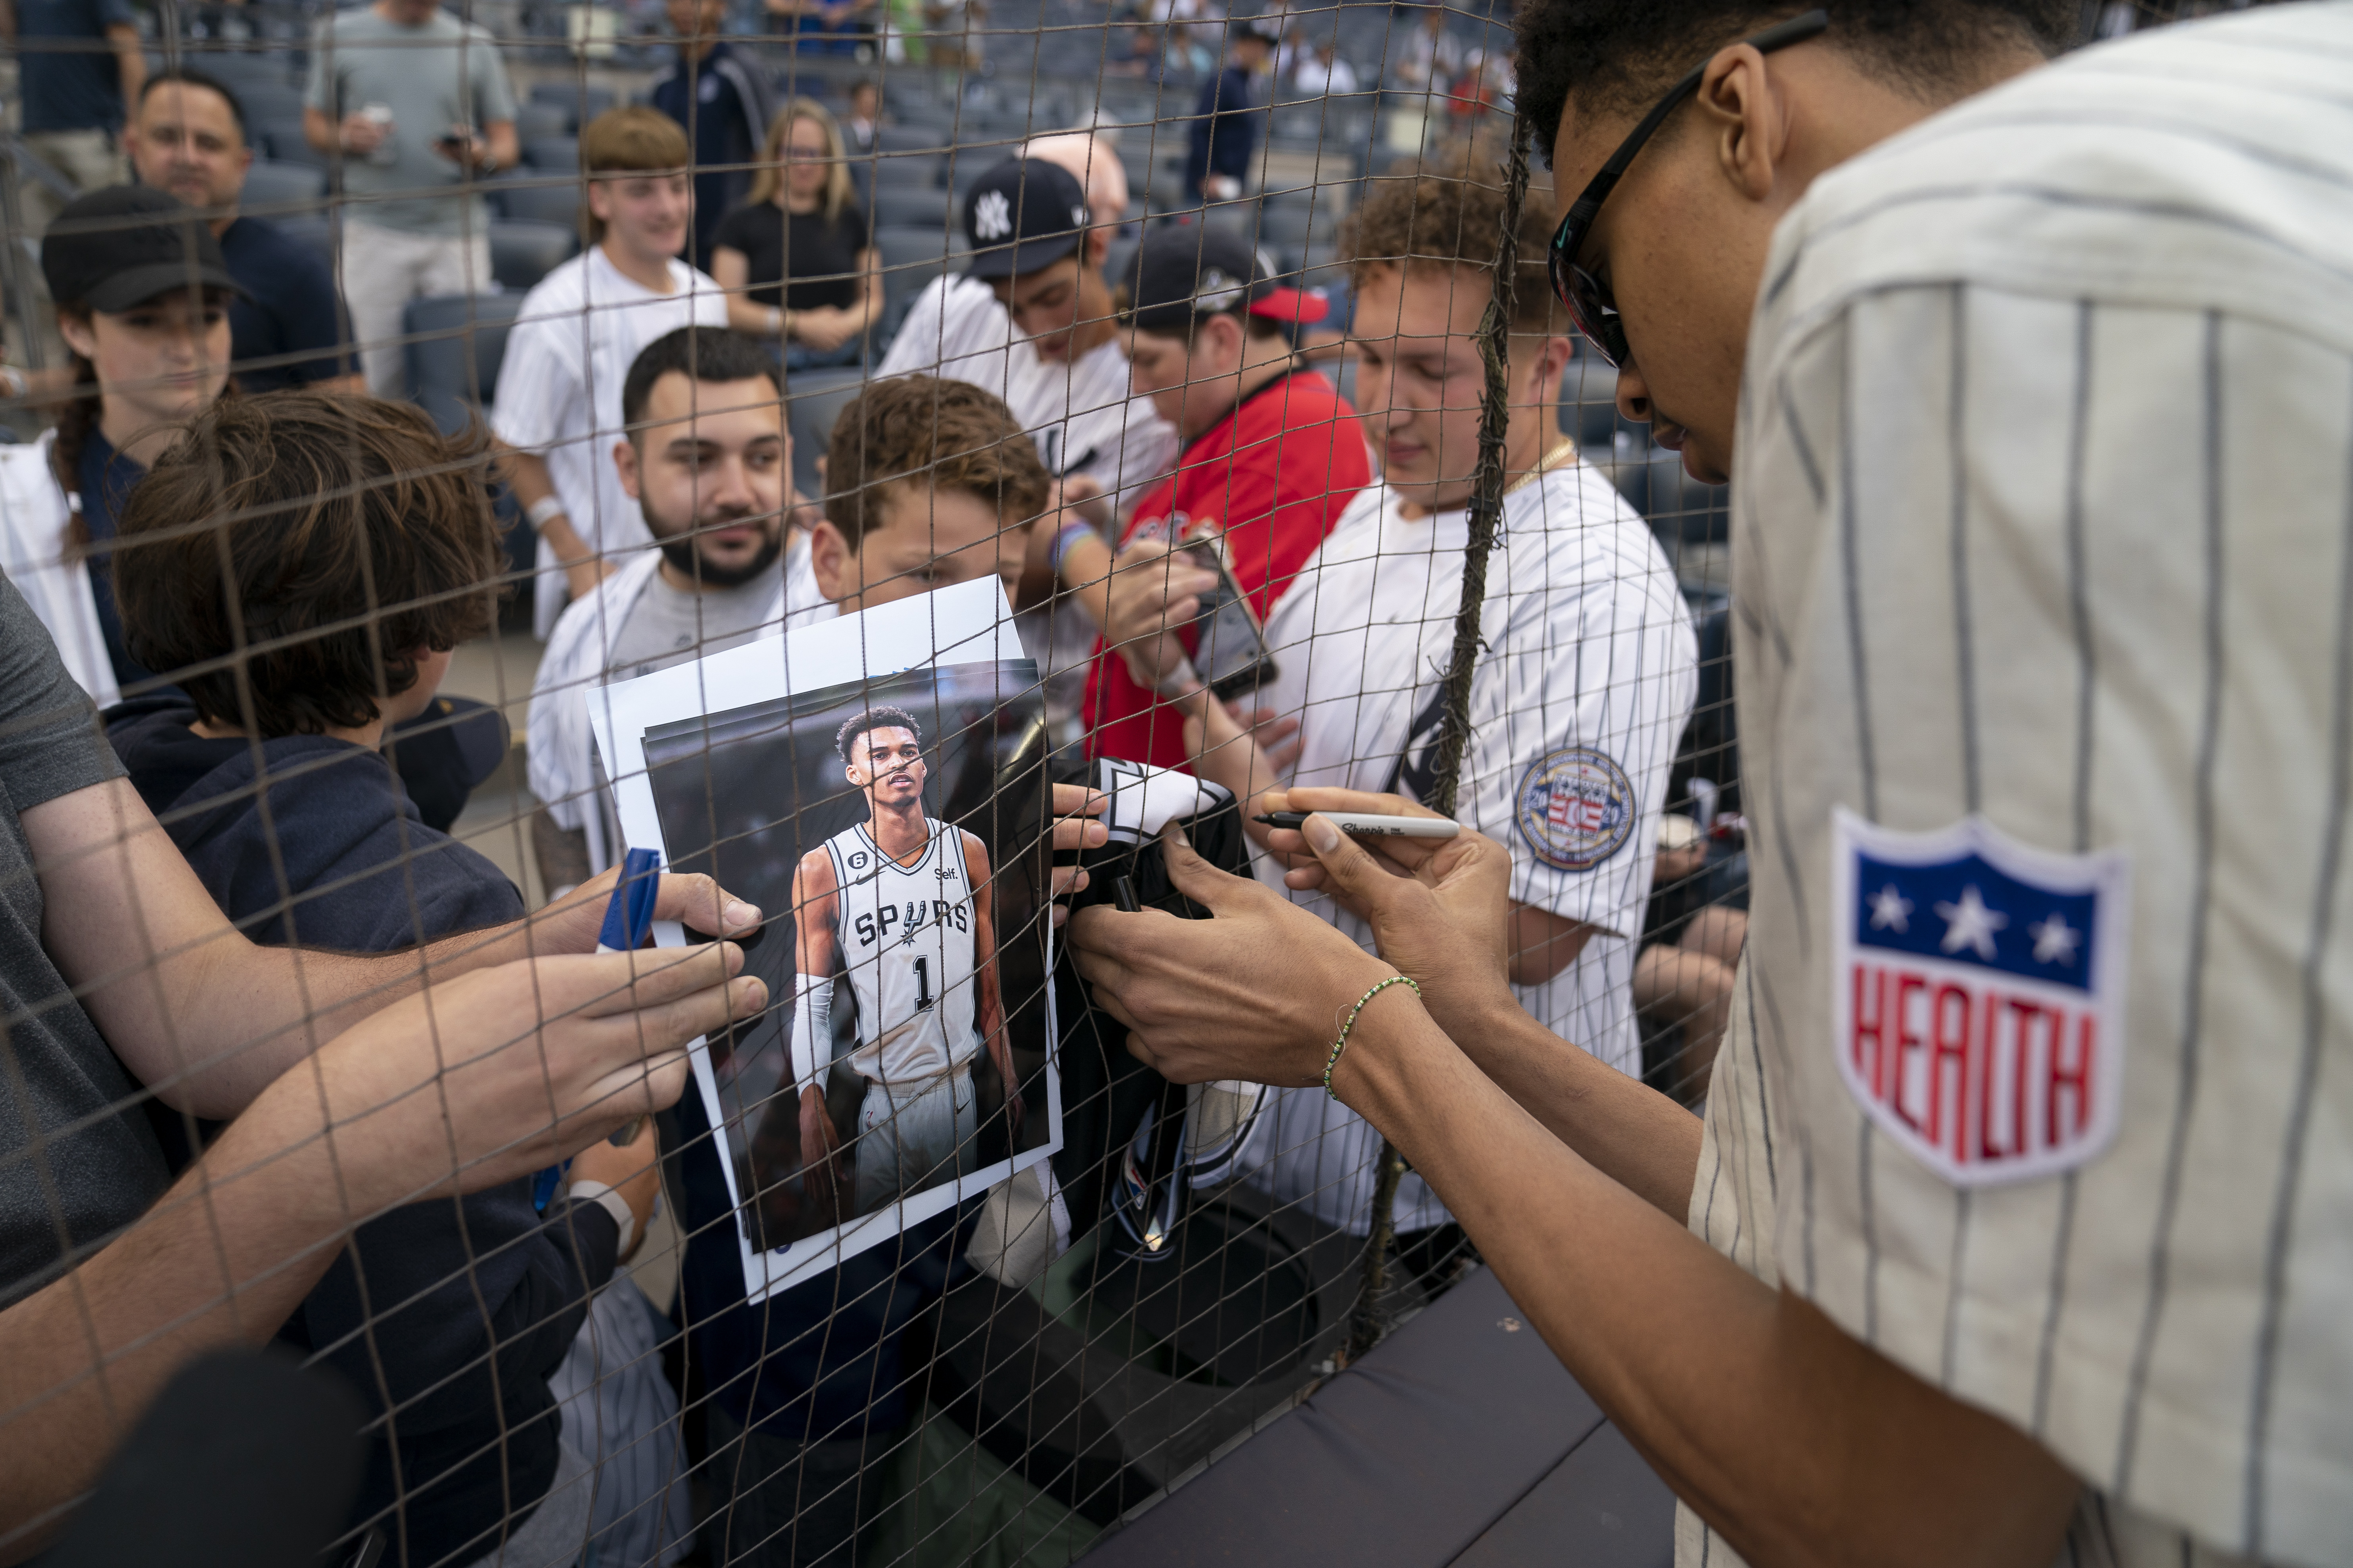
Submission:
[[[965,835],[925,823],[913,865],[880,849],[866,823],[826,839],[849,990],[859,1004],[859,1048],[849,1065],[871,1084],[932,1079],[972,1058],[972,877]]]

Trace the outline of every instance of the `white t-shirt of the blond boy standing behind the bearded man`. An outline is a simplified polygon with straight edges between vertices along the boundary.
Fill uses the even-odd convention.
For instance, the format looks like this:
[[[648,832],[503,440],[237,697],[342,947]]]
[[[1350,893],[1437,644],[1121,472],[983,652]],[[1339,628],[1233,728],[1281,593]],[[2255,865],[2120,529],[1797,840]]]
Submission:
[[[612,463],[628,367],[647,343],[680,327],[725,324],[727,296],[685,261],[671,261],[671,294],[654,294],[624,277],[602,244],[522,296],[489,423],[501,442],[546,461],[572,531],[591,550],[619,552],[654,538]],[[532,630],[546,637],[565,599],[565,578],[546,541],[539,543],[539,571]]]

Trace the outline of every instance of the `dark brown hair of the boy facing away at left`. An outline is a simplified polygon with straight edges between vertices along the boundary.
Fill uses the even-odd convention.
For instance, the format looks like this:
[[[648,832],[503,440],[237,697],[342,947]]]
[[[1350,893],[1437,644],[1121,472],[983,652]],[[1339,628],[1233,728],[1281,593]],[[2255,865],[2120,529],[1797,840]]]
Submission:
[[[372,724],[416,654],[496,621],[489,437],[405,402],[224,397],[118,517],[122,642],[214,724],[264,738]]]

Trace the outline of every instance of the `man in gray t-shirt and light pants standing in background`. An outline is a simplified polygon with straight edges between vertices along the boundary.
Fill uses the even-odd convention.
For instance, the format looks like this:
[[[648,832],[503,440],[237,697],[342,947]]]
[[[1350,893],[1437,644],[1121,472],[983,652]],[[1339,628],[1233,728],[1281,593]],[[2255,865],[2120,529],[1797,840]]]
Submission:
[[[515,92],[487,28],[435,0],[332,12],[311,35],[304,136],[344,167],[344,301],[367,386],[402,390],[402,313],[424,294],[487,294],[489,207],[511,169]],[[449,195],[419,195],[449,188]]]

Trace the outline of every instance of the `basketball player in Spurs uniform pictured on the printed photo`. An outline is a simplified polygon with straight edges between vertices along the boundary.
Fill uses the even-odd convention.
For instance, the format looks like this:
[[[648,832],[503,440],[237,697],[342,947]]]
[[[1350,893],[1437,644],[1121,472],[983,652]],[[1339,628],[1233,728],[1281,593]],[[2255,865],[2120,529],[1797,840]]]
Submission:
[[[979,1051],[1005,1084],[1019,1077],[998,992],[988,849],[925,813],[922,726],[904,708],[868,708],[842,722],[833,750],[871,816],[805,853],[793,875],[793,1084],[805,1180],[833,1182],[838,1201],[845,1150],[826,1112],[826,1072],[840,973],[856,1004],[849,1067],[866,1086],[847,1152],[852,1218],[979,1168]],[[1019,1088],[1007,1091],[1005,1117],[1021,1126]],[[826,1197],[812,1194],[819,1206]]]

